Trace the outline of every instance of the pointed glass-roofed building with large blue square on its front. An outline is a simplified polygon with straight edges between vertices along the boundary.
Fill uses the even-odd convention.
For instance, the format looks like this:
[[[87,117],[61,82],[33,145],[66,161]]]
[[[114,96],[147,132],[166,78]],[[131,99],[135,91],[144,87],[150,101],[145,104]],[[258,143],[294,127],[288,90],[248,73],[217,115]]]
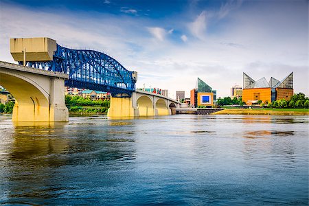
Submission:
[[[213,106],[217,99],[217,91],[209,87],[203,80],[198,78],[196,87],[190,92],[191,105],[197,106]]]

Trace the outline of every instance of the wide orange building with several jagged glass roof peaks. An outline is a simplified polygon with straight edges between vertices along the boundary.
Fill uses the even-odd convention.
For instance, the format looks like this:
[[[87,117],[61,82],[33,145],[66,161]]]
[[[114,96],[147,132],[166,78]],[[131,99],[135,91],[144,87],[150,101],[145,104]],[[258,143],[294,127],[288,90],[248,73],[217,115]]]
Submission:
[[[275,100],[289,100],[293,95],[293,72],[282,81],[271,78],[253,80],[246,73],[243,73],[244,89],[242,90],[242,101],[247,105],[255,104],[259,100],[264,103]]]

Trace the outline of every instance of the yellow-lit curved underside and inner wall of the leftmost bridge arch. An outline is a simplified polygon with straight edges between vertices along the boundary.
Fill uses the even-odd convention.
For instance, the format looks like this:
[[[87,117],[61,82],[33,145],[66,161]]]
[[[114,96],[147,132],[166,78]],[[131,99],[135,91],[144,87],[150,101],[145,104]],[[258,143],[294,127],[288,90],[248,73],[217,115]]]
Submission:
[[[0,73],[0,84],[15,99],[12,121],[49,121],[49,100],[23,76]]]

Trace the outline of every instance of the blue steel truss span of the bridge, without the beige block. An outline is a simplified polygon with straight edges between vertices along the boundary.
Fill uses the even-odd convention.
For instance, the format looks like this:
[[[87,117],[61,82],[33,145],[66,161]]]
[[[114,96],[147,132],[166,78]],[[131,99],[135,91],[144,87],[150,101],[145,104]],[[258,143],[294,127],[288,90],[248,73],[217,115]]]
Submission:
[[[113,97],[130,97],[135,91],[137,73],[117,60],[93,50],[69,49],[56,44],[52,60],[27,61],[28,67],[69,74],[65,86],[107,91]],[[19,61],[23,65],[23,61]]]

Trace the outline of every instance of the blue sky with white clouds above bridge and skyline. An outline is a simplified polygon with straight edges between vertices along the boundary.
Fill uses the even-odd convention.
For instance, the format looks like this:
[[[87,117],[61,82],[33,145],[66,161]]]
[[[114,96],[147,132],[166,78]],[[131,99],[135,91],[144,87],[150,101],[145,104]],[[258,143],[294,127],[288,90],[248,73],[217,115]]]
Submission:
[[[197,78],[218,97],[253,80],[294,72],[309,94],[308,1],[0,0],[0,60],[14,62],[10,38],[49,37],[94,49],[137,71],[137,88],[185,91]]]

